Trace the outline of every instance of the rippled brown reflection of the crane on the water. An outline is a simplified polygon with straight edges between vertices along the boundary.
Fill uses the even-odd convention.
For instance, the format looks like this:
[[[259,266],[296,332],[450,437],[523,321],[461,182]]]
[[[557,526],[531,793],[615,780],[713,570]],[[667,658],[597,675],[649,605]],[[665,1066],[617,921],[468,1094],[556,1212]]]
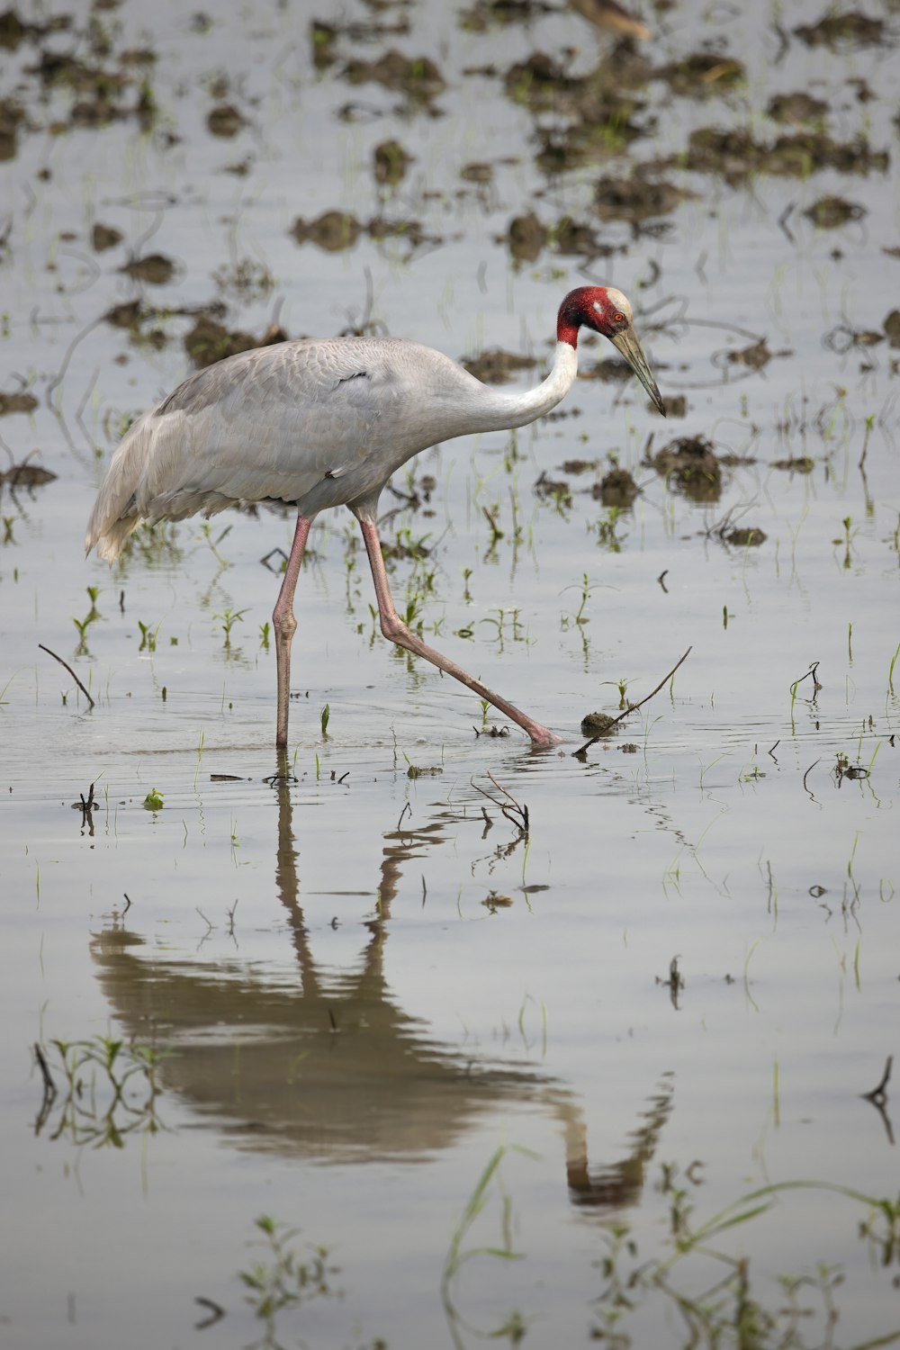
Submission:
[[[575,1204],[609,1211],[637,1200],[671,1111],[668,1080],[644,1108],[627,1156],[591,1168],[571,1091],[538,1069],[467,1057],[391,996],[383,961],[391,903],[403,869],[447,840],[453,817],[443,810],[422,829],[385,836],[378,907],[358,961],[336,973],[316,963],[300,903],[291,786],[282,755],[273,779],[275,887],[296,977],[237,960],[150,957],[121,922],[93,941],[115,1017],[135,1038],[175,1052],[162,1064],[165,1085],[242,1148],[329,1162],[421,1160],[506,1103],[532,1103],[561,1125]]]

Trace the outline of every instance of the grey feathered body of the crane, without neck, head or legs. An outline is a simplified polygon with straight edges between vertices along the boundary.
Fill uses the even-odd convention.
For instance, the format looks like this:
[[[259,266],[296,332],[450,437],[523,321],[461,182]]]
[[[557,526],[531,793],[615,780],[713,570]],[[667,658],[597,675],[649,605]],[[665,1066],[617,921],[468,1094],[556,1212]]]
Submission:
[[[212,516],[264,500],[316,514],[364,501],[412,455],[482,429],[482,393],[493,392],[448,356],[395,338],[289,342],[228,356],[128,429],[86,549],[97,545],[112,562],[142,518]]]

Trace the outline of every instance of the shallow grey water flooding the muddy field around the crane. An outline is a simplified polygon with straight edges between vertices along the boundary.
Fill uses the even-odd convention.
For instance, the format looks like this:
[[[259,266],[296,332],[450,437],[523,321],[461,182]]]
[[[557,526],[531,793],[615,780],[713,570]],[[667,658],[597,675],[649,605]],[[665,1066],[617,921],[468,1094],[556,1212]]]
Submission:
[[[881,40],[823,47],[793,31],[812,4],[789,22],[646,12],[657,70],[704,50],[746,78],[645,78],[645,135],[610,132],[602,161],[555,178],[534,157],[569,126],[564,90],[507,96],[513,62],[607,62],[607,88],[621,62],[633,88],[630,58],[575,12],[479,32],[430,3],[340,20],[223,5],[209,24],[123,3],[92,34],[76,16],[3,54],[0,96],[27,117],[3,165],[0,392],[36,406],[0,436],[58,475],[3,487],[9,1345],[900,1338],[892,1083],[862,1098],[900,998],[893,180],[812,165],[734,185],[675,166],[654,177],[695,196],[671,213],[631,228],[594,209],[598,177],[680,155],[695,128],[772,142],[777,93],[822,99],[834,138],[893,155],[896,22],[872,14]],[[351,24],[320,70],[313,16]],[[359,27],[403,18],[405,35]],[[351,58],[389,47],[429,57],[447,88],[417,103],[349,82]],[[128,63],[135,49],[155,63]],[[134,77],[116,107],[146,77],[155,115],[74,126],[86,96],[28,72],[40,51]],[[206,127],[223,104],[244,119],[232,139]],[[389,139],[414,157],[395,188],[371,169]],[[816,228],[803,212],[824,196],[866,213]],[[328,209],[418,221],[429,242],[298,246],[296,217]],[[529,211],[590,223],[615,252],[551,243],[515,263],[501,236]],[[94,221],[121,243],[96,252]],[[170,284],[119,271],[148,252],[174,259]],[[429,451],[397,475],[407,497],[382,498],[383,537],[426,549],[390,564],[398,606],[555,728],[557,751],[476,737],[502,720],[382,640],[347,513],[310,536],[285,760],[263,633],[278,559],[259,560],[290,547],[289,514],[139,536],[112,574],[84,562],[123,418],[188,374],[181,310],[240,263],[271,285],[225,296],[231,328],[371,317],[466,358],[542,362],[586,278],[631,296],[684,417],[586,378],[568,416]],[[138,298],[159,310],[143,325],[158,347],[101,321]],[[761,338],[761,369],[727,359]],[[582,343],[583,371],[609,355]],[[648,462],[649,437],[654,455],[677,436],[735,456],[716,500]],[[642,487],[633,509],[591,494],[610,454]],[[565,487],[536,487],[541,473]],[[727,543],[734,525],[766,537]],[[576,753],[586,713],[661,680]],[[741,1203],[761,1188],[768,1208]],[[723,1211],[742,1222],[706,1231]],[[796,1326],[792,1300],[812,1310]]]

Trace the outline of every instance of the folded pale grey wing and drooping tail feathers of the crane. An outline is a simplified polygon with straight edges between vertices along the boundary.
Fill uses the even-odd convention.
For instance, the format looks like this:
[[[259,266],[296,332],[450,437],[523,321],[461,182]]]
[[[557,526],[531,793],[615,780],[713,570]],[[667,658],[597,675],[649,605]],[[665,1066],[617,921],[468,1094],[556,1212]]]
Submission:
[[[371,394],[387,369],[383,355],[378,362],[383,347],[355,339],[282,343],[192,375],[117,447],[88,524],[88,552],[96,544],[113,562],[142,518],[182,520],[240,501],[296,502],[325,477],[339,478],[366,455],[391,401],[387,390]]]

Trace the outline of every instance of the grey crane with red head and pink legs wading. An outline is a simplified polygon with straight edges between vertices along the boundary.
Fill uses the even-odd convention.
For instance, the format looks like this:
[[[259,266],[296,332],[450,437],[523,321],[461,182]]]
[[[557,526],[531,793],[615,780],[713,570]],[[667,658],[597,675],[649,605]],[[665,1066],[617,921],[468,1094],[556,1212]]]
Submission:
[[[556,319],[546,379],[499,393],[430,347],[397,338],[324,338],[227,356],[192,375],[117,447],[88,524],[112,564],[142,520],[213,516],[240,502],[286,502],[297,528],[273,613],[278,667],[275,745],[287,744],[294,590],[309,528],[320,510],[348,506],[363,532],[385,637],[424,656],[505,713],[538,747],[559,736],[533,721],[402,621],[378,540],[378,498],[391,474],[429,446],[472,432],[506,431],[542,417],[568,393],[578,370],[578,331],[603,333],[622,352],[665,414],[621,290],[579,286]]]

